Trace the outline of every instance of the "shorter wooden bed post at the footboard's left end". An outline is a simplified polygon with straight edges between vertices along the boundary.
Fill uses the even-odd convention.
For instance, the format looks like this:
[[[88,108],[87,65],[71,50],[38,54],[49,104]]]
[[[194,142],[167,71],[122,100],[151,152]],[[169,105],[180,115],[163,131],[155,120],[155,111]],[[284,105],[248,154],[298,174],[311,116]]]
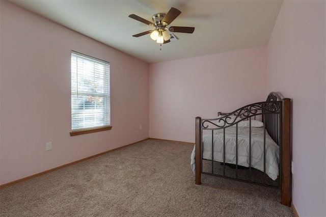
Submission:
[[[195,183],[202,183],[202,132],[201,132],[202,118],[196,117],[196,149],[195,149]]]

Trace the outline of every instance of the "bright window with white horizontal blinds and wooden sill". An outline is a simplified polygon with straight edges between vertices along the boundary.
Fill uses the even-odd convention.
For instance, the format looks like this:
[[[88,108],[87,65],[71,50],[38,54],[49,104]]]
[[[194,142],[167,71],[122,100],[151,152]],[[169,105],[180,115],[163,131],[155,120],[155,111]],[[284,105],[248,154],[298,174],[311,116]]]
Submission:
[[[70,135],[111,129],[110,63],[71,52]]]

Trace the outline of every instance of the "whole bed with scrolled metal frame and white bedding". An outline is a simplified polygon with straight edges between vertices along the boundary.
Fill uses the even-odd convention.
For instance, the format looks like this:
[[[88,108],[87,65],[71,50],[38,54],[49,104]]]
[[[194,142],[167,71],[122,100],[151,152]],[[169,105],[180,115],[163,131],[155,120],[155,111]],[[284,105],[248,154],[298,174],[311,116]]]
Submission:
[[[213,175],[281,189],[281,203],[291,204],[291,99],[272,92],[212,119],[196,118],[191,155],[195,183]]]

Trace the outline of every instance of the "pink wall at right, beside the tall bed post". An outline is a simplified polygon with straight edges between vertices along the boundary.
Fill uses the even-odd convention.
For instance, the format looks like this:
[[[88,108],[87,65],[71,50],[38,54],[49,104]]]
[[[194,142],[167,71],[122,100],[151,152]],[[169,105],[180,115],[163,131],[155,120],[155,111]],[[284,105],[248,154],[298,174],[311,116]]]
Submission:
[[[293,99],[293,204],[300,216],[326,216],[325,1],[283,2],[267,82]]]

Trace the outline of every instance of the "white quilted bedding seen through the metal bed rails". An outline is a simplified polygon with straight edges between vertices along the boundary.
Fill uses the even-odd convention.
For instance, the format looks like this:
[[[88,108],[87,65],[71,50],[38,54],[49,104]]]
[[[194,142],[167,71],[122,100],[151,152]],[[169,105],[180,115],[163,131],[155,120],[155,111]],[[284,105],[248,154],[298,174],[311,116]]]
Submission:
[[[236,127],[225,129],[225,162],[236,163]],[[264,128],[251,128],[251,166],[264,171]],[[203,135],[203,159],[212,159],[212,134]],[[214,130],[214,161],[223,162],[223,129]],[[279,175],[279,146],[270,138],[266,131],[266,174],[273,180]],[[249,167],[249,127],[238,127],[238,165]],[[195,172],[195,147],[191,155],[191,167]]]

